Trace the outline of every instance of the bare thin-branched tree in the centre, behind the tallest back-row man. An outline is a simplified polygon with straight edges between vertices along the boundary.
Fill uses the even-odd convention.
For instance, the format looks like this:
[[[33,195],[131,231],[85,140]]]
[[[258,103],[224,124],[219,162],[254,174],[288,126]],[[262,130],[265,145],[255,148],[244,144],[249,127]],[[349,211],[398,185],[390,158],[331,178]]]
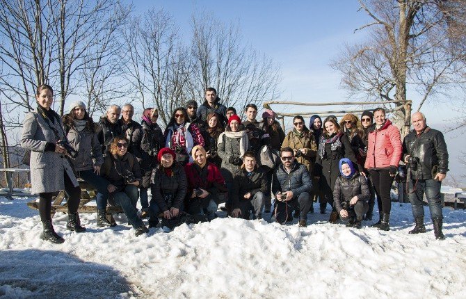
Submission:
[[[204,101],[204,90],[216,88],[225,106],[243,107],[276,99],[280,68],[271,58],[243,45],[238,26],[200,14],[192,18],[191,99]]]

